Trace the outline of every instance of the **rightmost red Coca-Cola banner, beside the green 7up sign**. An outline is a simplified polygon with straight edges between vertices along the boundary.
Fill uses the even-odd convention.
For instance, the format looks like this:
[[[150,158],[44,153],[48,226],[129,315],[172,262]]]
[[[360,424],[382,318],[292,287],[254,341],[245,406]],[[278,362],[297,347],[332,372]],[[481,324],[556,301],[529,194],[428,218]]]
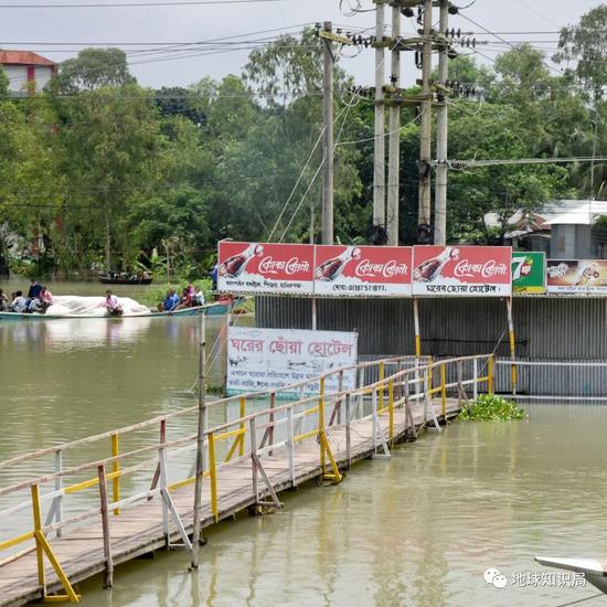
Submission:
[[[416,246],[413,295],[510,296],[511,258],[509,246]]]

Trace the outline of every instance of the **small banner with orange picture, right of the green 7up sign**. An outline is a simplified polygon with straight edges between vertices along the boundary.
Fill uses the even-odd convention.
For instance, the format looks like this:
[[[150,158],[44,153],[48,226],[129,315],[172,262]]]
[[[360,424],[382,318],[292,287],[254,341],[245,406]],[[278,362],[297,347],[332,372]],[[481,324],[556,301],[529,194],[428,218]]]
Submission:
[[[607,295],[607,259],[549,259],[549,292]]]

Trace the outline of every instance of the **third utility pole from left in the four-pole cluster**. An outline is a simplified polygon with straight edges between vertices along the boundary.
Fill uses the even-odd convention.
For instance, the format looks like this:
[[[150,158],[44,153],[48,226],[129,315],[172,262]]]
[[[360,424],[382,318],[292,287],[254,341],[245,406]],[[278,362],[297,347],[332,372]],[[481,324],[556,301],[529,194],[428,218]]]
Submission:
[[[418,223],[430,223],[430,155],[432,155],[432,9],[433,0],[424,0],[424,45],[422,51],[422,130],[419,142]]]

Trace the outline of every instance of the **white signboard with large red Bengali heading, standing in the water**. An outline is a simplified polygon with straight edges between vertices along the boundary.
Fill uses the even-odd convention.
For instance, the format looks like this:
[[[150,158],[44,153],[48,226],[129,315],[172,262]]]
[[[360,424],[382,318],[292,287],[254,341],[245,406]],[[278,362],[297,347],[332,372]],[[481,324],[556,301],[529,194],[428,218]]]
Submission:
[[[356,363],[358,333],[230,327],[227,394],[284,387]],[[327,377],[326,392],[339,388],[338,373]],[[343,374],[343,390],[355,387],[355,371]],[[318,394],[318,382],[305,395]],[[281,396],[299,396],[299,390]]]

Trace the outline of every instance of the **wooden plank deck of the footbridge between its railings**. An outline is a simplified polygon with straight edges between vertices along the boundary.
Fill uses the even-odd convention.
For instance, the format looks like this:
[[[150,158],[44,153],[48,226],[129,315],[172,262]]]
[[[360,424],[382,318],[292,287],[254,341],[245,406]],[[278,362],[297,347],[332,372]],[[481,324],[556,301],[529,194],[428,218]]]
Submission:
[[[437,415],[440,415],[440,404],[434,403]],[[414,422],[417,427],[423,424],[424,411],[422,405],[412,405]],[[446,417],[457,415],[459,405],[456,400],[448,400]],[[380,425],[384,436],[388,436],[387,415],[380,417]],[[351,424],[351,459],[360,460],[371,456],[373,446],[373,425],[370,417],[356,419]],[[405,413],[402,408],[394,411],[395,439],[405,434]],[[347,465],[345,426],[328,428],[327,436],[333,456],[343,468]],[[271,457],[263,458],[264,469],[273,488],[279,492],[291,484],[288,473],[288,458],[284,448],[277,448]],[[295,447],[296,483],[318,478],[321,475],[319,467],[319,445],[316,439],[309,438],[298,443]],[[252,488],[251,458],[234,459],[221,467],[217,475],[217,491],[220,519],[246,509],[255,503]],[[268,491],[259,478],[259,493],[267,498]],[[171,492],[175,509],[181,517],[188,533],[192,531],[193,486],[185,486]],[[203,483],[202,526],[214,523],[211,512],[210,480]],[[166,545],[162,531],[162,505],[159,497],[150,501],[141,501],[124,510],[119,517],[110,517],[110,536],[114,564],[124,563]],[[171,521],[171,542],[180,542],[179,535]],[[70,581],[74,584],[104,571],[105,558],[103,551],[103,532],[100,518],[94,522],[83,524],[76,529],[66,529],[62,537],[50,539],[53,551],[62,564]],[[46,567],[47,593],[61,592],[60,582],[51,567]],[[29,600],[41,598],[42,588],[38,583],[35,552],[30,552],[7,564],[0,564],[0,606],[23,605]]]

